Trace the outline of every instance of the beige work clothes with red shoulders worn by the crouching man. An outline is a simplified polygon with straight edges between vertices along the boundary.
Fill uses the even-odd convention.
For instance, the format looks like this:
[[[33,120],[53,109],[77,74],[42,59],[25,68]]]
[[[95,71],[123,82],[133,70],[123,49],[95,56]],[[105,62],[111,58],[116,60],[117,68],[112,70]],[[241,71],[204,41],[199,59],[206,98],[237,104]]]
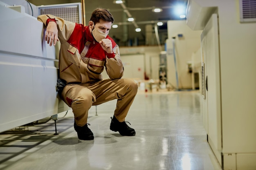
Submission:
[[[120,122],[125,121],[138,86],[132,79],[121,79],[124,67],[119,46],[107,36],[113,46],[113,53],[108,54],[94,40],[88,26],[65,21],[53,15],[38,16],[38,20],[45,26],[49,18],[56,20],[61,42],[59,76],[67,82],[62,91],[62,99],[72,108],[76,124],[87,124],[91,106],[113,99],[117,99],[115,117]],[[104,68],[109,79],[102,79]]]

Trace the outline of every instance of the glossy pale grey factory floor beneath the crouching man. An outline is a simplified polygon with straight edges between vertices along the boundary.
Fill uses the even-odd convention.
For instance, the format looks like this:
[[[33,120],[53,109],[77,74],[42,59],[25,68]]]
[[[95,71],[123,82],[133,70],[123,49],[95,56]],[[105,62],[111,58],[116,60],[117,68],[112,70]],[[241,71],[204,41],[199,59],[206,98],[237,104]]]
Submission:
[[[0,170],[221,170],[206,139],[198,91],[139,93],[126,121],[134,137],[109,129],[116,101],[92,106],[93,141],[81,141],[72,111],[0,134]],[[97,115],[96,115],[97,111]]]

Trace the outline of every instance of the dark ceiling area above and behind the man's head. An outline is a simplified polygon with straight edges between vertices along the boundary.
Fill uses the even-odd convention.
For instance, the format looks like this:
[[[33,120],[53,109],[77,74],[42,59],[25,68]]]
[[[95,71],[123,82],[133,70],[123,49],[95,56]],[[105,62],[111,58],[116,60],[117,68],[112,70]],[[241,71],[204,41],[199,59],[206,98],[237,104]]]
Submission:
[[[82,2],[81,0],[29,0],[32,4],[49,5]],[[124,5],[115,4],[114,0],[84,0],[85,4],[85,23],[88,24],[92,11],[98,7],[108,9],[112,13],[118,28],[112,28],[109,35],[114,37],[119,46],[132,45],[156,45],[156,41],[152,44],[147,44],[146,26],[152,25],[152,32],[155,35],[155,24],[162,21],[163,26],[157,26],[159,39],[161,44],[164,44],[167,38],[167,21],[168,20],[184,20],[180,15],[176,15],[176,7],[183,5],[186,9],[187,0],[126,0]],[[127,11],[135,18],[135,22],[128,22]],[[154,7],[162,8],[162,11],[155,13],[152,11]],[[184,13],[185,14],[185,13]],[[135,32],[135,27],[141,28],[141,32]],[[148,27],[147,27],[147,31]],[[136,43],[135,43],[136,42]]]

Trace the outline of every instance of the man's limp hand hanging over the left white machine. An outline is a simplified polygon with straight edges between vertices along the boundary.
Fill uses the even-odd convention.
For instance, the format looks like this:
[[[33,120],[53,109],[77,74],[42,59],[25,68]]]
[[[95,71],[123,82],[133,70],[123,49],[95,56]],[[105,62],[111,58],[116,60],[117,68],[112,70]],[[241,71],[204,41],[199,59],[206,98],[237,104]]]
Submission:
[[[47,44],[52,44],[55,46],[58,40],[58,28],[55,22],[50,21],[47,25],[46,32],[45,32],[45,41]]]

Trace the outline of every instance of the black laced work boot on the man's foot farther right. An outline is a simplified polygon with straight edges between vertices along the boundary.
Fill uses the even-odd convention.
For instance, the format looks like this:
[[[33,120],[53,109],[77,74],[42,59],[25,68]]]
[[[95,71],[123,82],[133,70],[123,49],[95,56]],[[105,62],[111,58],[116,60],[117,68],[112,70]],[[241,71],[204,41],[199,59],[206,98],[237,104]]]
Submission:
[[[130,128],[126,122],[129,123],[128,121],[120,122],[115,116],[113,116],[113,118],[111,117],[110,130],[115,132],[118,131],[122,136],[134,136],[135,130]]]

